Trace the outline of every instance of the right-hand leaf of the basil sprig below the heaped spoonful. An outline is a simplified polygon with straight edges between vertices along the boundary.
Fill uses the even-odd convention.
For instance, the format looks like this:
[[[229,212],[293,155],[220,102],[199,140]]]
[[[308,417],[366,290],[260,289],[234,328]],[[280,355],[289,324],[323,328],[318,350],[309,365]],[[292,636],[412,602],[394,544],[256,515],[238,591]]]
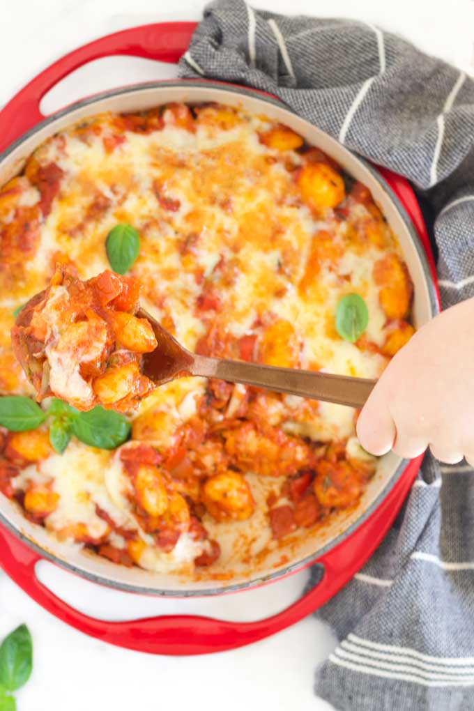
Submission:
[[[115,449],[129,439],[130,423],[118,412],[97,405],[89,412],[79,412],[75,416],[72,433],[91,447]]]

